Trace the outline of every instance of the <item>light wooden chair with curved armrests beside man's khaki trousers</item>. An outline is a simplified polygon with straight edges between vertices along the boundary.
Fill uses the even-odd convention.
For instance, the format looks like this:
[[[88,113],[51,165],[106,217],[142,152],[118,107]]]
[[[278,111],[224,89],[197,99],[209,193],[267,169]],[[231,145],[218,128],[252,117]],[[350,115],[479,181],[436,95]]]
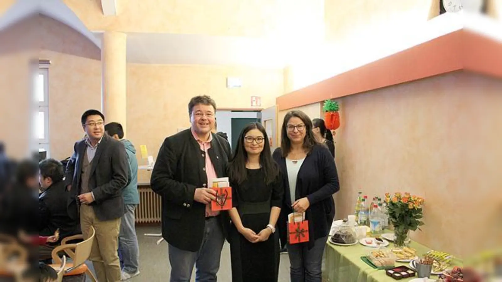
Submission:
[[[92,274],[90,269],[85,264],[85,261],[89,258],[91,253],[92,242],[94,241],[94,235],[96,234],[94,227],[91,226],[90,228],[91,235],[87,240],[76,244],[68,244],[68,241],[83,239],[83,235],[80,234],[66,237],[61,240],[60,246],[57,246],[52,250],[52,260],[56,264],[51,264],[51,266],[54,268],[57,268],[58,265],[62,263],[61,258],[58,256],[58,252],[60,251],[64,251],[73,260],[73,262],[66,263],[63,276],[73,276],[85,273],[93,282],[97,281],[94,274]]]

